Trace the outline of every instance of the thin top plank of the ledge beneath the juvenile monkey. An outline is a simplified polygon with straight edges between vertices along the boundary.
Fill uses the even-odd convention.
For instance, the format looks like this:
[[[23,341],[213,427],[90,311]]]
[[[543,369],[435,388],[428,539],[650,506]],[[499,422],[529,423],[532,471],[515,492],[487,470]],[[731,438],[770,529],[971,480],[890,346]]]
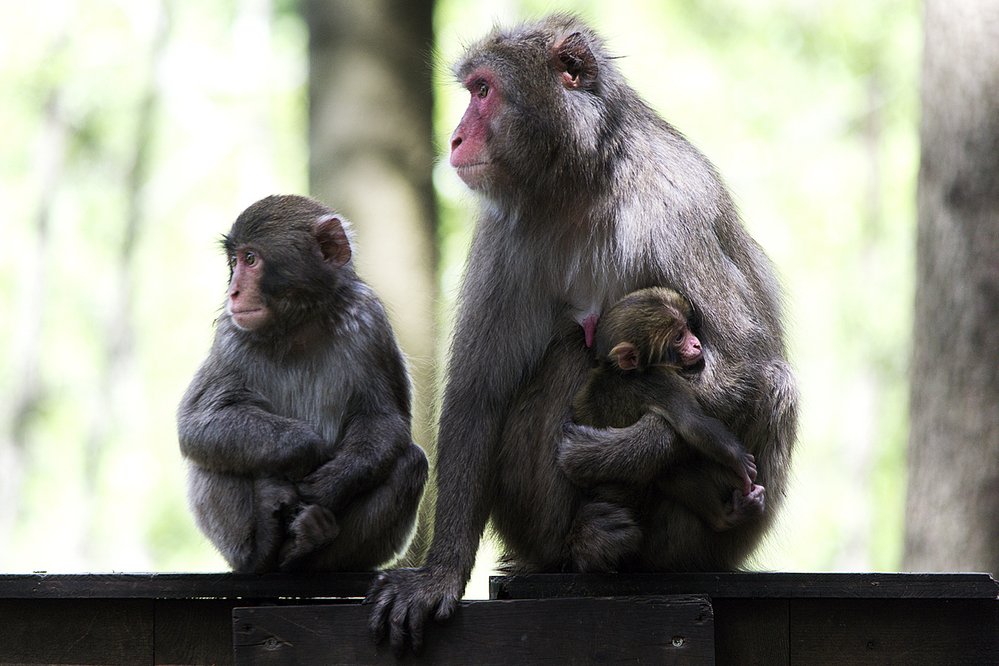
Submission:
[[[5,574],[0,599],[363,598],[373,573]]]

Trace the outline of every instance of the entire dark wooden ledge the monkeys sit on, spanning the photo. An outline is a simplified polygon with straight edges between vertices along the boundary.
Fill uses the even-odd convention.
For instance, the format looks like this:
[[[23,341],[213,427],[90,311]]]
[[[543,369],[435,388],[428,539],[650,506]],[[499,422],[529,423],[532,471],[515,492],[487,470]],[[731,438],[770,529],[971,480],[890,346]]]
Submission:
[[[0,575],[0,663],[395,663],[374,574]],[[429,622],[434,664],[999,664],[988,574],[496,576]]]

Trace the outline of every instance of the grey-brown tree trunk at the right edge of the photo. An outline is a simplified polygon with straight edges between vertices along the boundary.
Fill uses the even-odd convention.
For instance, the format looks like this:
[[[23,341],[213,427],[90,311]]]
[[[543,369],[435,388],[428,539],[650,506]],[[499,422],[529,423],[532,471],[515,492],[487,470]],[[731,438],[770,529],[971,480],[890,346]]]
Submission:
[[[910,570],[999,572],[999,0],[927,0]]]

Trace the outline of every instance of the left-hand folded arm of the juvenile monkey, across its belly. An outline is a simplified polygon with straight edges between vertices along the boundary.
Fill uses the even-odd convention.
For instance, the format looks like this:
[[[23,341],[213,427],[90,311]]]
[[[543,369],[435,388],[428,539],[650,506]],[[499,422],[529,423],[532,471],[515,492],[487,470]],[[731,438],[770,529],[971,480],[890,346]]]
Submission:
[[[177,413],[181,453],[216,472],[301,478],[325,446],[308,424],[268,411],[267,401],[206,364]]]

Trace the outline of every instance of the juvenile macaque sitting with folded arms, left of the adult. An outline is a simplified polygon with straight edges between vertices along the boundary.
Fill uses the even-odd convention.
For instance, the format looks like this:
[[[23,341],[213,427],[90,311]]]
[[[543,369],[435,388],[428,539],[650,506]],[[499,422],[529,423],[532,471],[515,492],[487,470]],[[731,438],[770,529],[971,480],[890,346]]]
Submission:
[[[367,570],[412,536],[427,459],[345,220],[298,196],[223,239],[229,293],[177,416],[198,526],[237,572]]]

